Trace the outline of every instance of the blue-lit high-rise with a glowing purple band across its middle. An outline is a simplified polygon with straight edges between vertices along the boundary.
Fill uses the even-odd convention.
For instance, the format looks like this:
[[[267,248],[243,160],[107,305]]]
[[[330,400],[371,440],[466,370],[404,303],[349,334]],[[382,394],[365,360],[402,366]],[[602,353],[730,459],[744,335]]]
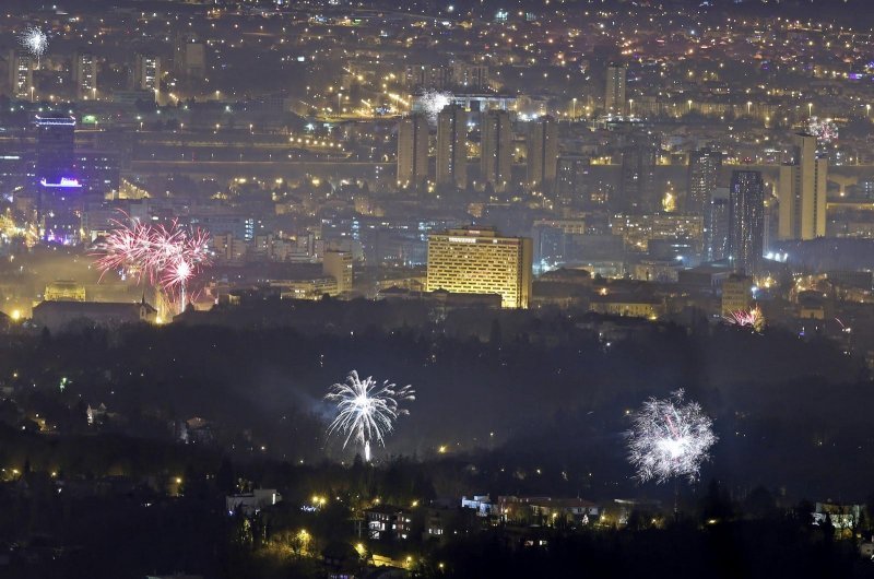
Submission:
[[[82,184],[74,172],[75,119],[48,114],[36,117],[37,221],[47,241],[79,240]]]

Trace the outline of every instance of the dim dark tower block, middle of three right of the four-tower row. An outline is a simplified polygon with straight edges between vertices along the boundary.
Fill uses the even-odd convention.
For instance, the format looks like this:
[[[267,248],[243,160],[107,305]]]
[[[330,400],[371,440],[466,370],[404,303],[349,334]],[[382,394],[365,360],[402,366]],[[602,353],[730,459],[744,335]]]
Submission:
[[[624,213],[652,213],[659,209],[656,194],[657,146],[645,135],[639,135],[622,150],[622,175],[618,199],[614,211]]]

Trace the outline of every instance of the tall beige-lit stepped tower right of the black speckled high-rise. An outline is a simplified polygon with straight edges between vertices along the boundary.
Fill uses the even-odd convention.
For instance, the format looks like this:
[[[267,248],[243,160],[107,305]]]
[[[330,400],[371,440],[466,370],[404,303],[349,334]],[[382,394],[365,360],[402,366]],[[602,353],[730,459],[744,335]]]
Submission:
[[[826,235],[828,159],[816,153],[816,137],[792,139],[792,159],[780,167],[780,239],[815,239]]]

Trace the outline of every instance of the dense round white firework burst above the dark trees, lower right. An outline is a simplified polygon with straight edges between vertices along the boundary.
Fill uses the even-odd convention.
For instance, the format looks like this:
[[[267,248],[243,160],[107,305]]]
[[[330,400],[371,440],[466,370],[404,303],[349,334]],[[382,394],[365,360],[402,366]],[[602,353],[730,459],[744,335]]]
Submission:
[[[628,460],[642,483],[661,484],[674,476],[698,478],[701,462],[717,441],[713,422],[696,402],[684,402],[683,390],[666,399],[650,398],[634,417],[628,438]]]

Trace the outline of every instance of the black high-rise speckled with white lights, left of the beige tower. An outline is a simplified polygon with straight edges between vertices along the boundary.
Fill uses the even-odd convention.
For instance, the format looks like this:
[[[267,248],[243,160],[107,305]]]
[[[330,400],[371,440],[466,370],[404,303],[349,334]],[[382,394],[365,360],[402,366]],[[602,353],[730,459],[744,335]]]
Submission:
[[[765,181],[757,170],[735,170],[729,188],[729,258],[737,270],[758,272],[765,238]]]

